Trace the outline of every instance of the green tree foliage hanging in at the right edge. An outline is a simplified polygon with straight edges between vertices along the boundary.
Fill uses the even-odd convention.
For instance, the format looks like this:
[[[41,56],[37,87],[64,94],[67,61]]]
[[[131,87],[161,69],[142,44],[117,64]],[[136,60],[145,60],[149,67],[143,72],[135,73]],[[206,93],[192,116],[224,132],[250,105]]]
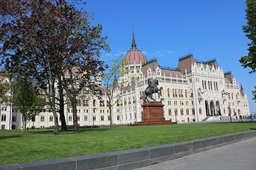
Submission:
[[[249,74],[252,74],[256,71],[256,1],[247,0],[246,6],[245,18],[247,20],[247,25],[243,25],[242,27],[243,32],[251,43],[248,43],[248,56],[241,57],[239,62],[244,68],[250,67],[252,71],[250,71]],[[256,89],[256,86],[254,88]],[[256,90],[253,90],[252,94],[253,100],[256,102]]]

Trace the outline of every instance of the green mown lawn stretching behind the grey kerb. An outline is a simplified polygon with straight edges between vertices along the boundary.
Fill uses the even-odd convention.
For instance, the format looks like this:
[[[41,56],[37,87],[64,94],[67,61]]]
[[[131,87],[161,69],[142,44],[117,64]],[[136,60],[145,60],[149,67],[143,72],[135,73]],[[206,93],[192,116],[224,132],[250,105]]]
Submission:
[[[0,131],[0,165],[76,157],[164,145],[256,129],[256,122],[176,124],[84,129],[53,135],[49,130]]]

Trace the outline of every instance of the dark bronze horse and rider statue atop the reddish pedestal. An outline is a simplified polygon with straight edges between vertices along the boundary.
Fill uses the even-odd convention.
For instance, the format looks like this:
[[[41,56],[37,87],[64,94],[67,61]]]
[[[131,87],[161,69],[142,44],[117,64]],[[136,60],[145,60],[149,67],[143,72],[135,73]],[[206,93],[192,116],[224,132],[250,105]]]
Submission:
[[[154,98],[151,97],[152,94],[155,94],[155,93],[157,93],[158,97],[160,97],[159,90],[161,90],[161,88],[158,89],[157,85],[158,85],[157,79],[151,80],[150,78],[148,78],[148,87],[143,92],[143,101],[144,102],[148,101],[148,96],[150,99],[156,101]]]

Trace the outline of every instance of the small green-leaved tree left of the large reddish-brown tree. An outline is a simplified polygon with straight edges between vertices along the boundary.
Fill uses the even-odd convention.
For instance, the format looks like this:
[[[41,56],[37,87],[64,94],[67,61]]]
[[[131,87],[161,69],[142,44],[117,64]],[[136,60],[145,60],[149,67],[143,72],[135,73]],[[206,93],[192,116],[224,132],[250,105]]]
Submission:
[[[13,108],[22,115],[22,134],[31,118],[44,108],[45,99],[38,95],[38,89],[28,79],[20,78],[13,84]]]

